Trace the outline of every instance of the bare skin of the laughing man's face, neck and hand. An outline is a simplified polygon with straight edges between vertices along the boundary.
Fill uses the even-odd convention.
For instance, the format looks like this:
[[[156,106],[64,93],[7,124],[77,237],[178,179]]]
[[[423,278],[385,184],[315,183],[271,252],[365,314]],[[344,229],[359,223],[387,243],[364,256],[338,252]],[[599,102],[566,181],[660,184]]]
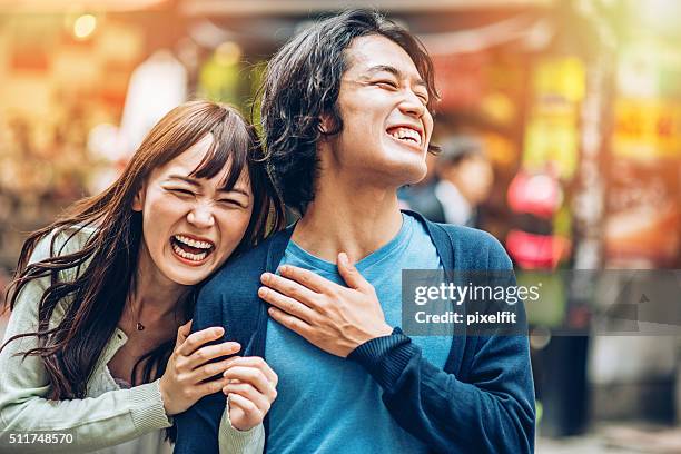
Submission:
[[[318,144],[316,197],[293,234],[309,254],[336,261],[346,286],[286,265],[280,276],[264,274],[259,290],[274,306],[275,320],[342,357],[392,333],[374,288],[353,263],[399,231],[396,190],[425,176],[433,131],[426,87],[399,46],[379,36],[362,37],[346,57],[349,67],[338,95],[343,131]],[[395,126],[421,131],[421,144],[388,135]]]

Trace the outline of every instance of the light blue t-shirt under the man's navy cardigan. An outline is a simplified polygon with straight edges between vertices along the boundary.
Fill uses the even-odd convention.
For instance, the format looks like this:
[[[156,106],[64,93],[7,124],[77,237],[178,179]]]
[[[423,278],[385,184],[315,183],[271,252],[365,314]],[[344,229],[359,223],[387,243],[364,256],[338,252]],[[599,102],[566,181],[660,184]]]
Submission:
[[[344,284],[335,264],[289,241],[280,265],[310,269]],[[356,264],[374,286],[391,326],[402,324],[402,269],[443,269],[435,245],[415,218],[403,214],[402,229],[387,245]],[[444,367],[450,336],[413,337],[423,356]],[[355,362],[323,352],[273,319],[265,353],[279,376],[269,412],[267,451],[273,453],[425,453],[381,399],[382,389]]]

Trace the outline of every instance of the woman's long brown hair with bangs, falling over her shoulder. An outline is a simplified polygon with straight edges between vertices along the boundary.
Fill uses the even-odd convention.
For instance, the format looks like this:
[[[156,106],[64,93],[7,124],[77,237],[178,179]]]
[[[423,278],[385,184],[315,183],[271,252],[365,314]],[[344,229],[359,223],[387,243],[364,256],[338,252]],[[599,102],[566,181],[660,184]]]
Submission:
[[[141,214],[131,209],[135,195],[154,169],[207,134],[213,135],[213,145],[191,176],[213,178],[229,165],[225,186],[234,187],[241,172],[247,171],[254,195],[251,219],[235,254],[282,227],[283,206],[265,170],[253,127],[235,109],[215,102],[193,101],[171,110],[151,129],[116,182],[102,194],[76,203],[57,221],[33,233],[23,244],[14,280],[7,293],[9,307],[14,308],[21,289],[31,280],[49,276],[50,286],[40,302],[36,302],[38,329],[16,335],[7,343],[27,336],[38,338],[38,346],[24,352],[23,357],[41,358],[50,382],[50,399],[86,396],[88,378],[116,329],[128,292],[135,286],[142,239]],[[56,250],[57,243],[61,243],[58,238],[67,238],[66,245],[87,226],[95,230],[82,249],[63,255],[63,250]],[[49,235],[52,235],[50,257],[29,263],[36,245]],[[60,282],[59,273],[65,270],[72,270],[75,278]],[[67,305],[61,320],[50,328],[55,308],[67,297],[72,303]],[[193,312],[193,298],[187,299],[184,320]],[[160,377],[174,343],[175,339],[168,339],[145,355],[135,366],[134,379],[142,359],[140,379],[150,382]]]

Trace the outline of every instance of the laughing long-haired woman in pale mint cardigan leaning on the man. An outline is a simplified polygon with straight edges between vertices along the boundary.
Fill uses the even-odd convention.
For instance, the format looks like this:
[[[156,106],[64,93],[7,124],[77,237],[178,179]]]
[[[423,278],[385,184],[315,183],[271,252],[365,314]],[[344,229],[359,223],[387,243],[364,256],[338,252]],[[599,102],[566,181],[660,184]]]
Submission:
[[[258,156],[234,109],[188,102],[109,189],[29,237],[0,351],[1,452],[169,452],[172,415],[220,391],[220,451],[263,448],[276,374],[223,359],[240,346],[188,319],[194,286],[282,224]]]

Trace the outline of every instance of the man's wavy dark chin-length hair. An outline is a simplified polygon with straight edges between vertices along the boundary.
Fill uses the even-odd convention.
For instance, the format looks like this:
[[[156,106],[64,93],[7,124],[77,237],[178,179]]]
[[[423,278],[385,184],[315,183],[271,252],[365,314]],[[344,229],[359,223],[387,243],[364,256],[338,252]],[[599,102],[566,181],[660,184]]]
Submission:
[[[298,33],[267,65],[260,107],[267,148],[267,169],[284,203],[304,214],[315,196],[317,140],[343,129],[337,100],[340,78],[348,67],[345,50],[353,39],[383,36],[414,61],[428,91],[428,110],[438,96],[433,62],[423,45],[407,30],[372,10],[348,10]],[[322,131],[320,118],[334,128]],[[431,145],[428,151],[436,152]]]

